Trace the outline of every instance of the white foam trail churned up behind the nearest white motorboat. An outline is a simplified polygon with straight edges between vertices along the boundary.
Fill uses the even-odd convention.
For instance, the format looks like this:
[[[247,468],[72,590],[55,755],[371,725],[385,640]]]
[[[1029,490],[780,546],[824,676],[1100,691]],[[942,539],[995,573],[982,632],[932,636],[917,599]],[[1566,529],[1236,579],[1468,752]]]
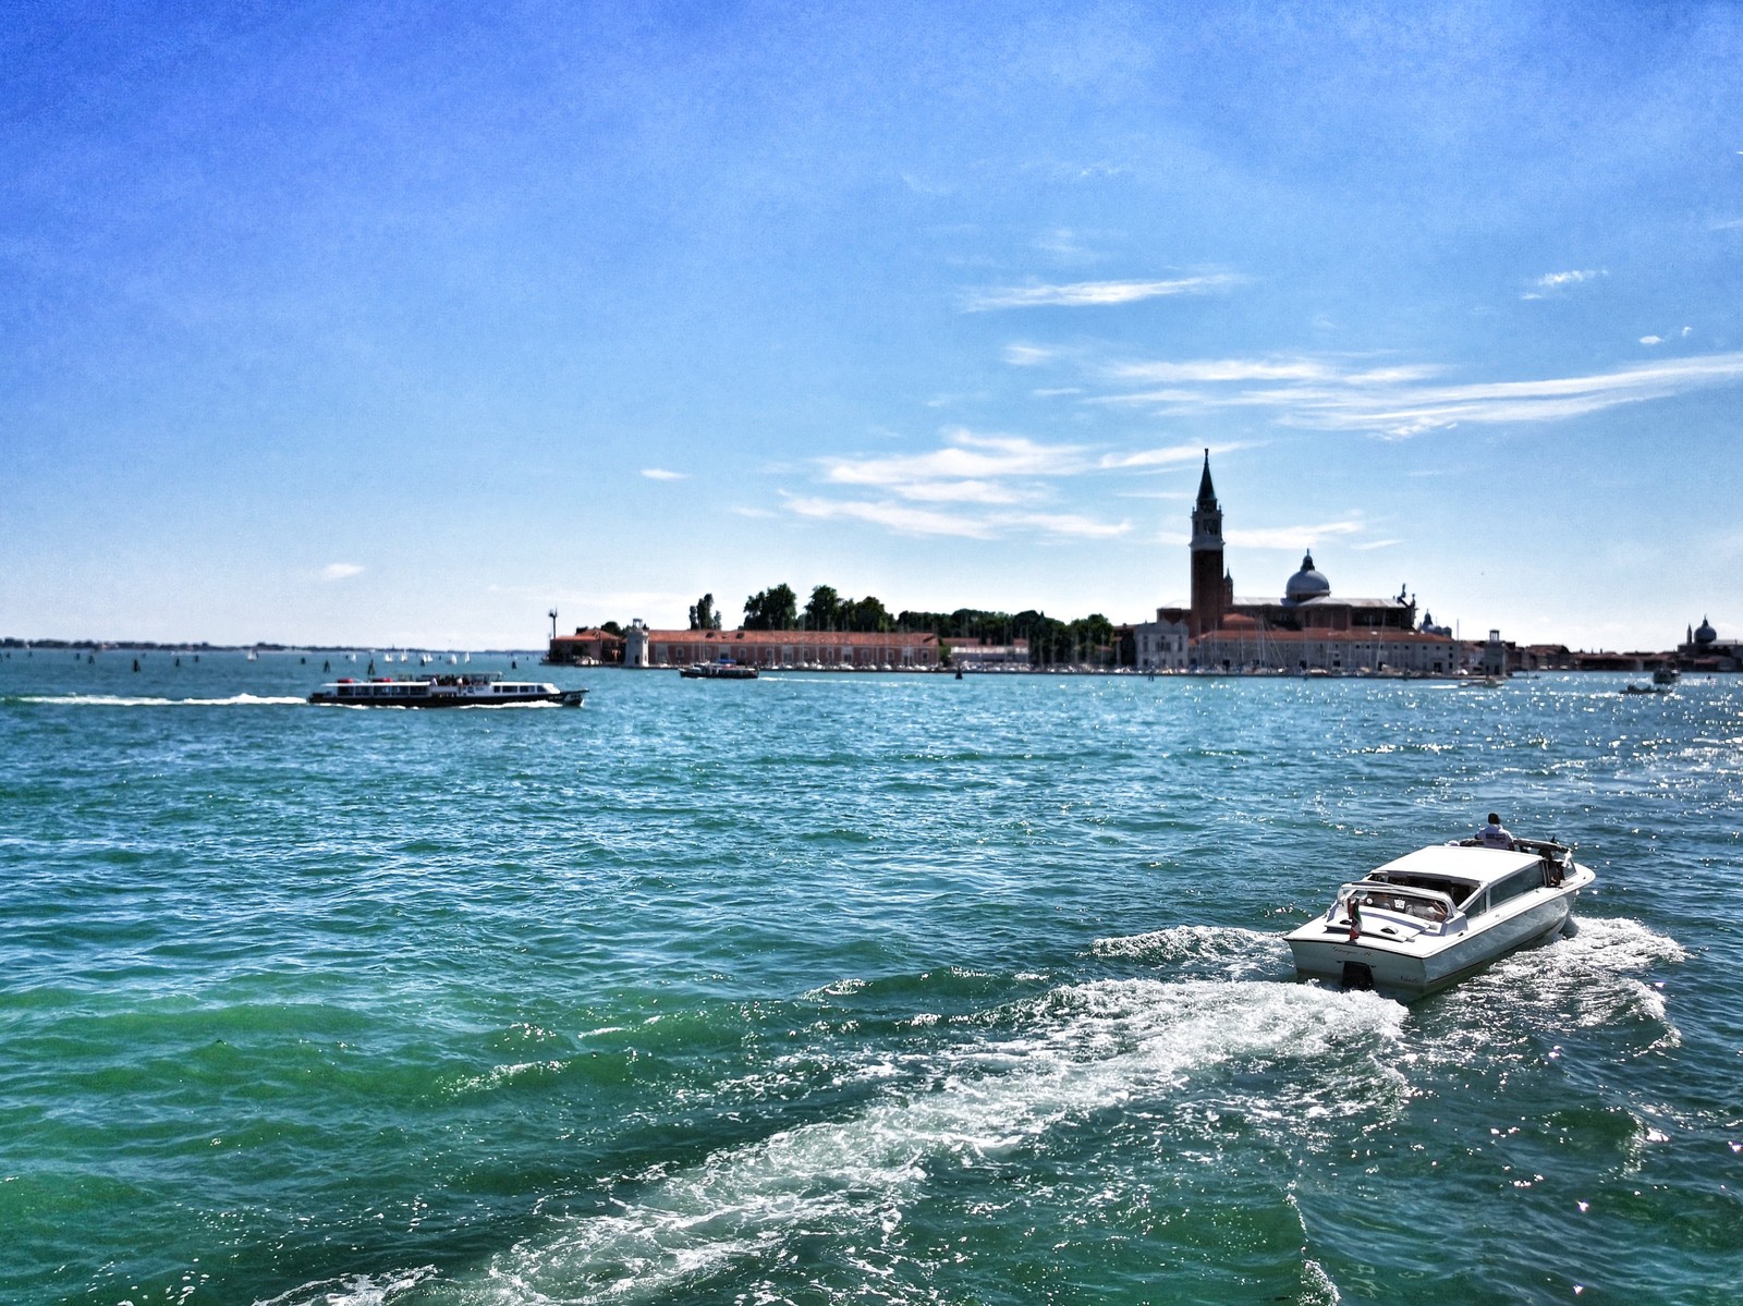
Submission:
[[[500,1254],[483,1282],[451,1285],[455,1299],[659,1297],[797,1231],[887,1235],[929,1170],[997,1158],[1065,1119],[1166,1099],[1194,1074],[1229,1064],[1302,1058],[1312,1067],[1356,1048],[1363,1074],[1339,1076],[1340,1097],[1307,1085],[1306,1114],[1349,1114],[1372,1109],[1375,1095],[1403,1097],[1394,1065],[1405,1008],[1373,994],[1103,980],[1004,1015],[1013,1013],[1027,1029],[939,1051],[931,1090],[892,1086],[847,1119],[804,1125],[654,1175],[615,1214],[563,1221]],[[1316,1076],[1306,1069],[1302,1078]]]

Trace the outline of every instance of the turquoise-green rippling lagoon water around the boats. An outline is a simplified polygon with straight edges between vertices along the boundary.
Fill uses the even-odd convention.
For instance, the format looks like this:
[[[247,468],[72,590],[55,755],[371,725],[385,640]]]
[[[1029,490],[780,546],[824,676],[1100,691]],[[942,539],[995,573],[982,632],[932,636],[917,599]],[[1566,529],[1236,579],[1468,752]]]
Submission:
[[[1743,1297],[1738,680],[539,675],[0,659],[0,1299]],[[1576,936],[1290,982],[1490,807]]]

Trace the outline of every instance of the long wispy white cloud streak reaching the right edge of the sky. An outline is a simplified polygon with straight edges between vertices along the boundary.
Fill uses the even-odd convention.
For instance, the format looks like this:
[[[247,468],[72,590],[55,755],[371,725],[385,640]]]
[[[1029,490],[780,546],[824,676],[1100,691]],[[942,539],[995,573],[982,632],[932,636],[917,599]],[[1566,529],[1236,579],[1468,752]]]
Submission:
[[[1367,431],[1401,439],[1461,424],[1501,425],[1560,422],[1605,408],[1666,399],[1689,391],[1743,382],[1743,352],[1665,359],[1583,377],[1541,380],[1429,384],[1434,368],[1353,370],[1318,361],[1297,375],[1269,359],[1248,368],[1227,361],[1138,364],[1114,370],[1114,378],[1157,375],[1182,384],[1098,396],[1098,403],[1140,405],[1170,415],[1197,415],[1227,408],[1269,408],[1286,425],[1323,431]],[[1318,371],[1316,371],[1318,370]],[[1309,375],[1311,373],[1311,375]],[[1194,382],[1194,378],[1199,378]]]

